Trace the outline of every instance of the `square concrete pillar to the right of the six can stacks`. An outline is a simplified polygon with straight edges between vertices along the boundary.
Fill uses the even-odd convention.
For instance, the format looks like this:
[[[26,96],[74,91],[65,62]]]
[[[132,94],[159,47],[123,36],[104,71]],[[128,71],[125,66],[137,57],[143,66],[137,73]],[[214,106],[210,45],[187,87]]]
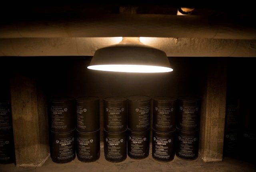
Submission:
[[[227,64],[225,59],[208,62],[203,89],[199,154],[204,162],[222,161],[226,111]]]

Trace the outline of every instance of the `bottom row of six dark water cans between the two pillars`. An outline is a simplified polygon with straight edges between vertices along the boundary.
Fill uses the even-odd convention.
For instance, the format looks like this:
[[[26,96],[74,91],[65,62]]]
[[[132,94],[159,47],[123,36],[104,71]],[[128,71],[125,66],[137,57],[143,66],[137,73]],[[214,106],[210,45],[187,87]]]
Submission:
[[[52,132],[51,157],[54,162],[66,163],[77,156],[82,162],[93,162],[100,158],[100,130],[95,132]],[[152,157],[168,162],[174,155],[186,160],[198,157],[199,130],[172,132],[152,130]],[[122,132],[104,130],[104,157],[110,162],[121,162],[127,155],[133,159],[148,157],[150,149],[150,129]]]

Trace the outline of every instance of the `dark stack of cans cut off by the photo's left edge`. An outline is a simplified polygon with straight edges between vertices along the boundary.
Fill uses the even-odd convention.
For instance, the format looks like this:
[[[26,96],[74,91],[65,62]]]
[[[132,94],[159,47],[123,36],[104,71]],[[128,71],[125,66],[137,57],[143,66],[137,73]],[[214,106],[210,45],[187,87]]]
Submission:
[[[14,163],[14,138],[10,101],[0,101],[0,164]]]

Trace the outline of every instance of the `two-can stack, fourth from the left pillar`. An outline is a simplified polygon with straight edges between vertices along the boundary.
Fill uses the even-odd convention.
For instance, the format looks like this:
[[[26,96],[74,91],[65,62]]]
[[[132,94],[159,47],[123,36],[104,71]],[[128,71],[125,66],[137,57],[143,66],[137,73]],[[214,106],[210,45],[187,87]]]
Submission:
[[[151,98],[145,95],[133,95],[127,99],[127,154],[133,159],[143,159],[149,154]]]

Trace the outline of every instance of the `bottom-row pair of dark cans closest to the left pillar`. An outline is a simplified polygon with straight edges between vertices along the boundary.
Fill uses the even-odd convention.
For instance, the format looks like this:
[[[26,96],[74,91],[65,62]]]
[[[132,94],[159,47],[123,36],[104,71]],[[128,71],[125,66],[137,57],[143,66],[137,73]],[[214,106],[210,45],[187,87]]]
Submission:
[[[50,153],[53,162],[66,163],[77,156],[82,162],[93,162],[100,157],[100,129],[94,132],[51,131]]]

